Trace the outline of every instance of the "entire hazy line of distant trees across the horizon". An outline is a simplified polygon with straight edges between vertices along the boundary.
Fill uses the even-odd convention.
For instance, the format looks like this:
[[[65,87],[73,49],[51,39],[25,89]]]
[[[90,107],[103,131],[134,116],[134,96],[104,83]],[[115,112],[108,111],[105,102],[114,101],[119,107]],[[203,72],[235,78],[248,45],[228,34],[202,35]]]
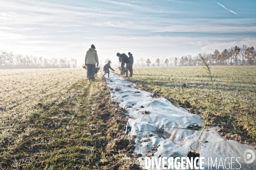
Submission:
[[[254,47],[235,46],[223,51],[217,49],[212,54],[200,53],[205,62],[209,65],[256,65],[256,51]],[[110,59],[106,59],[108,61]],[[136,61],[136,62],[135,62]],[[119,63],[120,65],[120,63]],[[199,66],[204,65],[203,60],[198,55],[182,56],[170,58],[157,58],[156,61],[144,59],[134,56],[134,67],[164,67],[164,66]],[[5,50],[0,51],[0,68],[77,68],[77,61],[74,58],[67,59],[66,57],[58,58],[43,58],[35,56],[23,56],[21,54],[13,54]]]

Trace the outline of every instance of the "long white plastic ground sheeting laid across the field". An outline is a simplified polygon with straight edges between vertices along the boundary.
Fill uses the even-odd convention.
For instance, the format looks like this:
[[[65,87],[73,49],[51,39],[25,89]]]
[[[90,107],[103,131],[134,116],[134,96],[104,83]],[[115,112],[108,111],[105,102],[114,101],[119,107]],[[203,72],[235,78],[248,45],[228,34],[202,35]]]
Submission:
[[[135,89],[135,84],[113,73],[110,73],[110,78],[106,79],[106,82],[111,88],[111,99],[119,102],[119,106],[128,111],[127,116],[130,119],[126,133],[136,136],[133,152],[143,155],[138,158],[141,167],[145,167],[145,156],[151,153],[154,157],[161,155],[167,158],[186,155],[189,146],[196,141],[199,134],[198,130],[187,127],[201,125],[200,116],[173,106],[167,99],[152,98],[150,93]],[[144,114],[143,111],[149,113]],[[204,141],[208,142],[204,143]],[[200,157],[204,157],[204,169],[208,169],[208,158],[213,161],[217,158],[217,164],[220,164],[219,170],[231,169],[228,165],[233,157],[232,169],[256,170],[256,161],[251,164],[244,162],[244,151],[247,149],[256,153],[253,147],[222,139],[222,136],[211,128],[201,140]],[[225,158],[227,158],[226,167],[221,165],[221,161],[225,164]],[[212,165],[212,169],[216,169],[216,164],[215,167]]]

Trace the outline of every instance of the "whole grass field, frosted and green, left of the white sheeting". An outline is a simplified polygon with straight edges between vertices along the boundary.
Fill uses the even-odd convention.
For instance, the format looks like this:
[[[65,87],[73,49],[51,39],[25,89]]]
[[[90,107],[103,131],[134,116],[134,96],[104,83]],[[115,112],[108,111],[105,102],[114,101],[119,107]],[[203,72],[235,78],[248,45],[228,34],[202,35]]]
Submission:
[[[138,169],[102,78],[84,69],[0,71],[0,169]]]

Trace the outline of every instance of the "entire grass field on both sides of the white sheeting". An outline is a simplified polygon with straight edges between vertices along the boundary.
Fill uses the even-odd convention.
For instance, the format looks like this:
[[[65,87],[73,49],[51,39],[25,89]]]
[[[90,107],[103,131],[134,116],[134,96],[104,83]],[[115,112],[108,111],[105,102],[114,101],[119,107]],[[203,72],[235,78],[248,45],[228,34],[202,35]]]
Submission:
[[[111,101],[103,78],[87,82],[85,74],[84,69],[0,71],[0,169],[139,169],[136,155],[126,157],[134,141],[125,135],[125,110]],[[212,125],[228,130],[222,132],[225,139],[253,144],[256,67],[217,66],[212,75]],[[134,68],[129,80],[191,113],[200,115],[207,106],[203,67]]]

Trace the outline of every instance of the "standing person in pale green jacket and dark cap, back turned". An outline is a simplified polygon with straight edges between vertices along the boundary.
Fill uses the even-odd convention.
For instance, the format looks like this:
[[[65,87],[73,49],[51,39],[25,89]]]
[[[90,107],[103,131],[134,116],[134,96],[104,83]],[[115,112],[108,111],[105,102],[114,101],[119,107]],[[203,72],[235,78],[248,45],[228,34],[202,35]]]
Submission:
[[[92,44],[91,48],[86,52],[85,55],[85,65],[87,66],[87,76],[88,76],[88,82],[94,81],[94,75],[95,75],[95,65],[97,63],[97,66],[99,65],[99,58],[97,51],[95,50],[96,47]]]

